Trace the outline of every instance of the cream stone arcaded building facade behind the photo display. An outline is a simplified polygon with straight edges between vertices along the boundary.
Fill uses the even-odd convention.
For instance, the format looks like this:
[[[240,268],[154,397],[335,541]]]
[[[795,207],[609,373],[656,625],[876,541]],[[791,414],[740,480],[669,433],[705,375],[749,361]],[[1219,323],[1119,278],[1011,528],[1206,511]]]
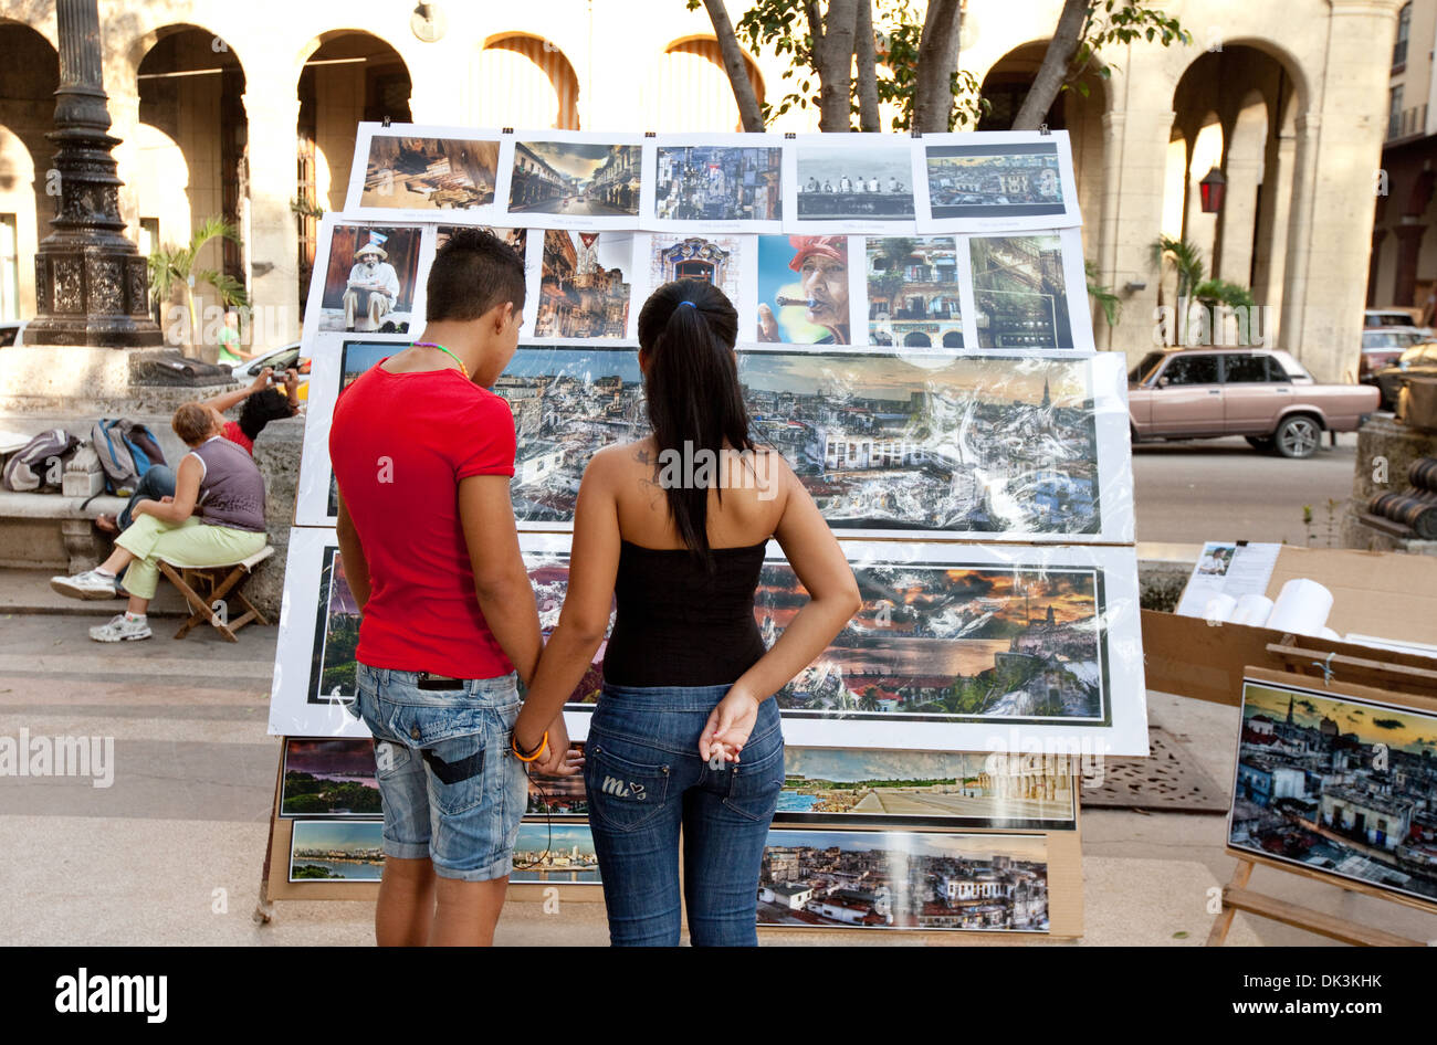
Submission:
[[[1175,233],[1204,251],[1209,274],[1252,289],[1282,347],[1319,378],[1341,378],[1357,365],[1403,3],[1161,6],[1193,44],[1112,49],[1111,78],[1095,78],[1086,95],[1065,92],[1049,113],[1073,139],[1086,260],[1124,301],[1115,327],[1095,320],[1098,343],[1134,359],[1151,349],[1164,289],[1151,248]],[[961,62],[993,100],[984,126],[1010,119],[1061,7],[966,4]],[[1417,17],[1427,7],[1414,0],[1408,32],[1421,37],[1410,44],[1414,60],[1430,65],[1433,32]],[[670,0],[450,0],[425,4],[428,19],[391,0],[101,0],[99,10],[131,235],[148,251],[185,243],[207,217],[231,218],[243,245],[211,245],[201,264],[249,287],[273,340],[297,336],[315,214],[343,205],[362,119],[586,131],[739,123],[706,13]],[[53,3],[0,0],[4,316],[33,314],[32,258],[53,214],[45,132],[56,43]],[[787,90],[772,56],[749,72],[769,100]],[[1420,92],[1404,85],[1408,93]],[[815,125],[813,111],[795,109],[772,129]],[[1219,214],[1197,202],[1211,167],[1227,175]],[[631,191],[629,172],[612,175],[606,192]],[[1384,243],[1380,263],[1390,251]]]

